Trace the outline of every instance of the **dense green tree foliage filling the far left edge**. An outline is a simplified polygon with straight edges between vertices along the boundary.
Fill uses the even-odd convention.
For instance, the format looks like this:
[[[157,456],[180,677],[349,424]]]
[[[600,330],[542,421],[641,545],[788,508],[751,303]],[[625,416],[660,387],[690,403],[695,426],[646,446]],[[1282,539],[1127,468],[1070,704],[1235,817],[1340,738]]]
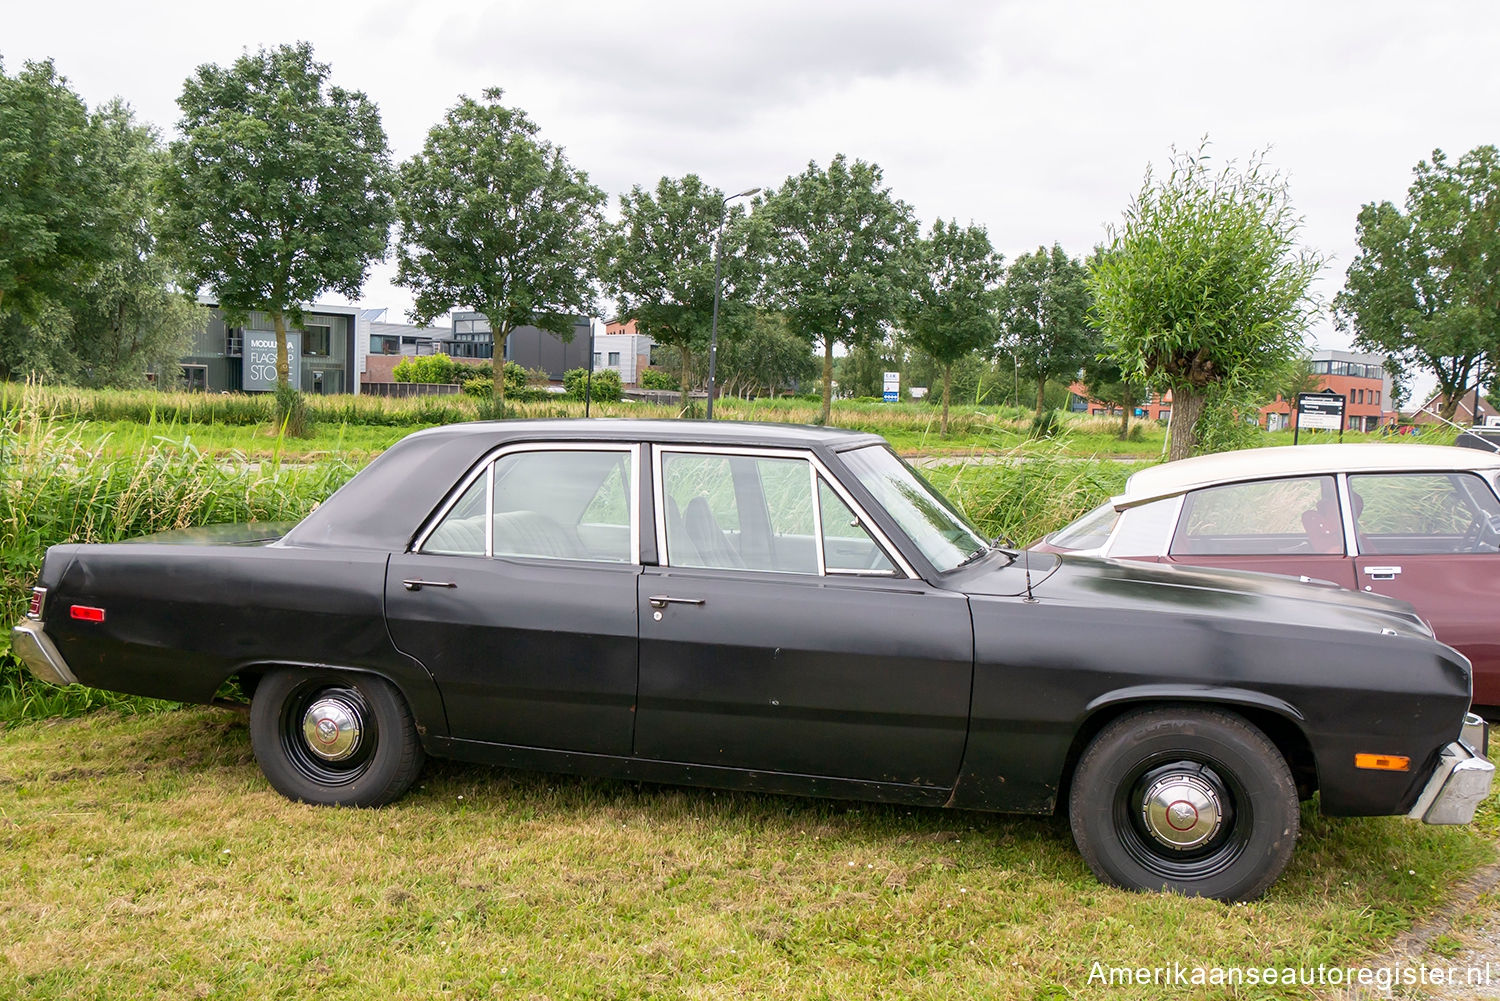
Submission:
[[[50,62],[0,68],[0,372],[129,386],[176,369],[204,317],[156,252],[158,158],[122,101],[90,114]]]

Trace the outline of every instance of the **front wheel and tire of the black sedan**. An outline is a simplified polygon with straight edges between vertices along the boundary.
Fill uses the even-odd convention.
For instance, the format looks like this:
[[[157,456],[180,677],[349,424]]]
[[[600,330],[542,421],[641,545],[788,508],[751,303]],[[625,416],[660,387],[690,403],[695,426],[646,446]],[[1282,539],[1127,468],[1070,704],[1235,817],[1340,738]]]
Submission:
[[[1130,713],[1089,743],[1068,819],[1104,882],[1252,900],[1292,860],[1298,786],[1245,719],[1209,708]]]

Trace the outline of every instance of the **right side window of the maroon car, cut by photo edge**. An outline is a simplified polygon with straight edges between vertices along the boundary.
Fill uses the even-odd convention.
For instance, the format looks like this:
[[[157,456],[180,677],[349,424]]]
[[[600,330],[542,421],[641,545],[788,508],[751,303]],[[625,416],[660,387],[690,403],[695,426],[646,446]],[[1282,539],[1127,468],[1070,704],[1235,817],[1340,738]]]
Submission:
[[[1360,552],[1500,551],[1500,501],[1473,473],[1350,476],[1348,503]]]

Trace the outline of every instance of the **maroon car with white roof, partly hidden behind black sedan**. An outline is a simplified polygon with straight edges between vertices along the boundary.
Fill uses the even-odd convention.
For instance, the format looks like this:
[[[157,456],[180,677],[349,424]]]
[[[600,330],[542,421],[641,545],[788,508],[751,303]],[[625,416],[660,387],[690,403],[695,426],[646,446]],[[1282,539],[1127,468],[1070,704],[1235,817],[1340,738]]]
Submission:
[[[1500,713],[1500,453],[1311,444],[1142,470],[1034,549],[1287,573],[1410,602]]]

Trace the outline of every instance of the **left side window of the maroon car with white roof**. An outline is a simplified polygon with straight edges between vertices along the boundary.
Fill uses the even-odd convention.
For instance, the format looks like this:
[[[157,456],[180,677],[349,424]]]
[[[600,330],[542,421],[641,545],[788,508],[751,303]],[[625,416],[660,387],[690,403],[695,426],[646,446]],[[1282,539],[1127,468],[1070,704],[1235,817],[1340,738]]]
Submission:
[[[1342,554],[1332,476],[1228,483],[1184,497],[1172,555]]]

